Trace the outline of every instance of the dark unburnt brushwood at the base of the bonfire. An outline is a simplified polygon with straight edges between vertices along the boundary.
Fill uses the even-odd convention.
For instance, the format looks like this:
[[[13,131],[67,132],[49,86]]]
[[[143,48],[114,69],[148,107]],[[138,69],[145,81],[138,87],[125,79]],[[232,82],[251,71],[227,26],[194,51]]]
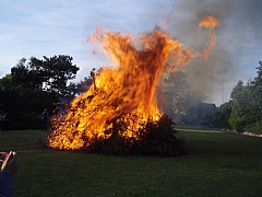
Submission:
[[[162,155],[174,157],[186,153],[184,138],[175,130],[172,123],[167,115],[162,116],[158,121],[146,123],[139,131],[136,137],[122,137],[120,134],[124,123],[115,123],[114,129],[105,131],[111,134],[107,139],[96,139],[85,150],[95,153],[107,154],[139,154],[139,155]],[[120,130],[119,130],[120,129]]]

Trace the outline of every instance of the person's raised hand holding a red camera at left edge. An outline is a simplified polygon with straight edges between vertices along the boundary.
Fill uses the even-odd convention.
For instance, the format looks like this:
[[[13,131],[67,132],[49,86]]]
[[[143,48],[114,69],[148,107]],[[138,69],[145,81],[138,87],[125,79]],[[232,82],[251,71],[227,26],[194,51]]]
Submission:
[[[1,171],[8,172],[13,175],[17,171],[19,155],[16,152],[11,151],[9,157],[4,160]]]

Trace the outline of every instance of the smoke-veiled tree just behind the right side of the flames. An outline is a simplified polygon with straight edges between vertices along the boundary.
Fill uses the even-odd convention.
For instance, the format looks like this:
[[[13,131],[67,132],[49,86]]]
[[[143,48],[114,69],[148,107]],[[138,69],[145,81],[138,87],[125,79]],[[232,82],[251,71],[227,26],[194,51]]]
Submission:
[[[188,74],[169,72],[158,90],[158,101],[164,113],[175,121],[203,123],[206,114],[213,113],[214,105],[204,104],[206,96],[202,92],[191,90]]]

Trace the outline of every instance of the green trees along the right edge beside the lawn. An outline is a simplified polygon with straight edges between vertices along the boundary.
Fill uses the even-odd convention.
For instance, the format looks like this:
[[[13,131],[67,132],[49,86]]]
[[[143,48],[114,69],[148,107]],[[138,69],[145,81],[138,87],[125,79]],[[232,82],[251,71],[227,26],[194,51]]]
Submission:
[[[241,80],[233,88],[230,101],[221,106],[214,118],[215,125],[218,119],[226,117],[219,127],[245,131],[250,125],[262,126],[262,62],[257,67],[257,77],[243,84]],[[227,111],[228,108],[229,111]],[[260,127],[261,127],[260,126]],[[262,127],[261,127],[262,128]],[[249,130],[250,131],[250,130]]]

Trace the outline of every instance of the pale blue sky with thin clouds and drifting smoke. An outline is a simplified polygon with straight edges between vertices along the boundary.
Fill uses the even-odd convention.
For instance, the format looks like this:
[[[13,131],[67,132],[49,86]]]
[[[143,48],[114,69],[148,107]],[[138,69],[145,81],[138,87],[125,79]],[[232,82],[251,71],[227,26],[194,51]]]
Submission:
[[[94,57],[86,39],[96,28],[132,35],[160,26],[186,48],[201,50],[209,32],[198,28],[204,15],[216,18],[216,45],[207,60],[187,67],[192,89],[217,106],[228,101],[239,80],[257,76],[262,61],[262,0],[0,0],[0,78],[23,57],[69,55],[80,67],[76,82],[92,68],[107,65]]]

